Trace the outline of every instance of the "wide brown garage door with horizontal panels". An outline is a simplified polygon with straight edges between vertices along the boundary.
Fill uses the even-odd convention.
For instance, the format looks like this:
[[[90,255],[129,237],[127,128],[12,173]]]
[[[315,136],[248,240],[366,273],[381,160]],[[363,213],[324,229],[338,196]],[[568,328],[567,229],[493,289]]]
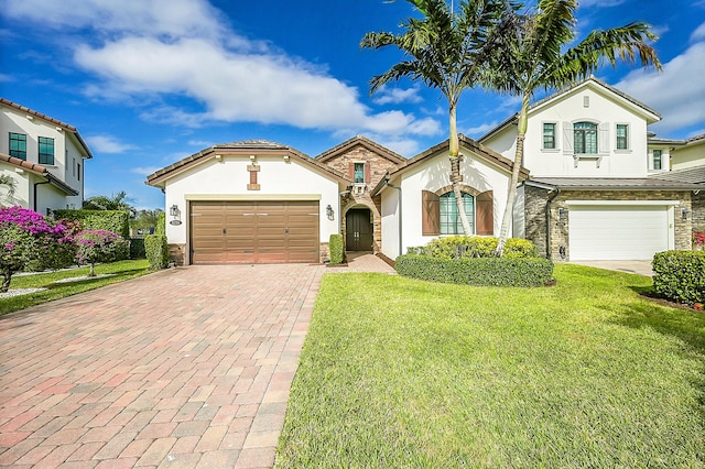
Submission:
[[[193,201],[193,264],[318,262],[318,201]]]

